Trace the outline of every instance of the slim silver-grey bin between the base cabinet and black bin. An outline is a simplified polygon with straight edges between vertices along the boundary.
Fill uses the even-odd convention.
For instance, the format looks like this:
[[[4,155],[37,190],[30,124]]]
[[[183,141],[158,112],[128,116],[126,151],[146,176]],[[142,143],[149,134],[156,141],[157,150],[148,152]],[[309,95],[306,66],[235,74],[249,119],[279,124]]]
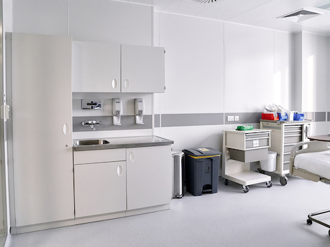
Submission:
[[[173,151],[173,185],[172,185],[172,198],[181,198],[184,196],[183,179],[182,179],[182,159],[184,152]]]

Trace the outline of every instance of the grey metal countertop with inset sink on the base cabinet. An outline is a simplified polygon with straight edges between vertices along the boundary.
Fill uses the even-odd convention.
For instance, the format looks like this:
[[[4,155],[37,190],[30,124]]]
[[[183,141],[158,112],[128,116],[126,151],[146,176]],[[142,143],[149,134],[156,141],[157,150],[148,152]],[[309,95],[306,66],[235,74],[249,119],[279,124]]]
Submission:
[[[109,141],[107,144],[102,145],[77,145],[77,141],[94,140],[94,139],[74,139],[74,151],[85,150],[103,150],[111,148],[139,148],[156,145],[170,145],[174,141],[164,139],[157,136],[143,136],[143,137],[115,137],[115,138],[98,138]]]

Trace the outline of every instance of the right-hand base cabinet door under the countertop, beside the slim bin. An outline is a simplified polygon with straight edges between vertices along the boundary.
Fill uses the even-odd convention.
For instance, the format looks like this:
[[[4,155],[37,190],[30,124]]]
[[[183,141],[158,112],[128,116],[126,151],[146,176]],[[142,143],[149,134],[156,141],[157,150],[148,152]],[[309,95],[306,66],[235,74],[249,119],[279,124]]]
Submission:
[[[170,145],[127,148],[127,210],[170,203],[172,152]]]

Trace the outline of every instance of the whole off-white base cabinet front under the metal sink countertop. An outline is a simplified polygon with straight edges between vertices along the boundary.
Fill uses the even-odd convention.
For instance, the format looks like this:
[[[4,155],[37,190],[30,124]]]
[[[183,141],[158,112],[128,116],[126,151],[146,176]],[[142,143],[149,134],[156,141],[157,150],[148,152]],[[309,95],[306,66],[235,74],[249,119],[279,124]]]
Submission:
[[[169,205],[171,146],[74,152],[74,198],[76,218]]]

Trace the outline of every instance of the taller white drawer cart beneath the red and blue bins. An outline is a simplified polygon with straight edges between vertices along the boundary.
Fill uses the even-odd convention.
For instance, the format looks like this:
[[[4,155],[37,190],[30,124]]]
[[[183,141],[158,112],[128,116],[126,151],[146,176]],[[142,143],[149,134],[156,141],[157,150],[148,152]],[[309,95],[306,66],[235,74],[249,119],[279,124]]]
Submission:
[[[308,141],[310,136],[311,120],[303,121],[274,121],[260,119],[260,128],[272,130],[270,151],[277,152],[276,170],[280,176],[281,185],[287,184],[289,174],[290,153],[292,147],[300,141]],[[260,172],[263,173],[262,170]]]

